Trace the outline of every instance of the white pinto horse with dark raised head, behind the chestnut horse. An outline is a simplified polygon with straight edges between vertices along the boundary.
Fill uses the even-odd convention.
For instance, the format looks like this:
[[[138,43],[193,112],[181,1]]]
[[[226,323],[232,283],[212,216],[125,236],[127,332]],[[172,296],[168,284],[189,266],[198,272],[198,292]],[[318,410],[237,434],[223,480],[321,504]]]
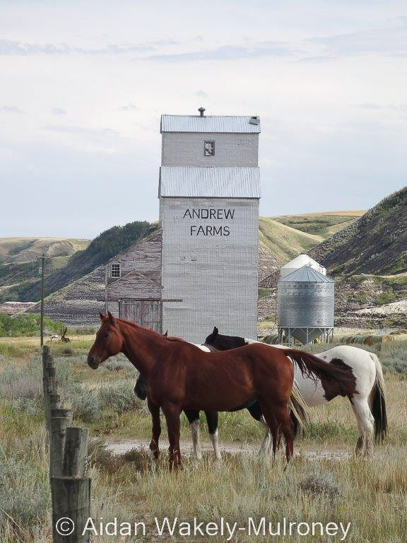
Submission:
[[[217,327],[213,328],[213,332],[205,340],[205,345],[220,351],[254,343],[259,343],[259,341],[219,334]],[[283,345],[271,347],[288,349]],[[364,453],[366,457],[370,456],[373,436],[376,441],[382,441],[387,434],[386,397],[379,358],[374,353],[350,345],[338,345],[316,356],[332,365],[347,368],[348,372],[355,376],[355,392],[348,396],[358,422],[359,437],[355,453],[356,455]],[[294,369],[294,376],[308,407],[325,404],[338,395],[332,388],[332,383],[326,383],[323,379],[312,380],[308,375],[301,373],[298,368]],[[257,416],[254,418],[261,421],[261,408],[259,404],[254,404],[254,406],[257,408]],[[269,432],[267,432],[261,449],[268,447],[269,436]]]

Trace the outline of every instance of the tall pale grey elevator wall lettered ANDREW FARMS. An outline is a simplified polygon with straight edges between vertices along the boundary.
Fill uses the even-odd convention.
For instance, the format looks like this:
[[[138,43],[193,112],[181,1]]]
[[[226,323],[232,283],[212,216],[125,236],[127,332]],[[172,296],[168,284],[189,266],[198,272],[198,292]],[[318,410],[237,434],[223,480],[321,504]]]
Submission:
[[[229,210],[229,217],[189,217],[201,209]],[[216,325],[223,334],[256,337],[258,220],[258,199],[160,199],[163,298],[182,299],[163,302],[169,334],[201,342]]]

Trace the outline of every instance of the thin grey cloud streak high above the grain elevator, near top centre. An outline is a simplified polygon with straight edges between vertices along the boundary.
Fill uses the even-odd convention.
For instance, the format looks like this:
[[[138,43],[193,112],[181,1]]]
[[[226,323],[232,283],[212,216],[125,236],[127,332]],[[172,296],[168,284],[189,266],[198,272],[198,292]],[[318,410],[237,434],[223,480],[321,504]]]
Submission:
[[[160,62],[191,62],[198,60],[237,60],[255,59],[261,57],[284,57],[295,51],[281,42],[268,42],[268,45],[242,47],[237,45],[221,45],[216,49],[201,49],[198,51],[152,54],[146,60]]]

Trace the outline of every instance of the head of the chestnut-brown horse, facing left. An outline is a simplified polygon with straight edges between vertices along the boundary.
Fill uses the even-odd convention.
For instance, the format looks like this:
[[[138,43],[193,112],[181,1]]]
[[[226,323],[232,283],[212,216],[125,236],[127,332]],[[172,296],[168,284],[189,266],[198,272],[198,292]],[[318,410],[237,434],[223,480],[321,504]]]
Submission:
[[[122,350],[124,338],[119,326],[110,311],[106,315],[99,313],[102,324],[96,333],[93,346],[88,354],[88,365],[93,370],[98,369],[99,364],[110,356],[119,354]]]

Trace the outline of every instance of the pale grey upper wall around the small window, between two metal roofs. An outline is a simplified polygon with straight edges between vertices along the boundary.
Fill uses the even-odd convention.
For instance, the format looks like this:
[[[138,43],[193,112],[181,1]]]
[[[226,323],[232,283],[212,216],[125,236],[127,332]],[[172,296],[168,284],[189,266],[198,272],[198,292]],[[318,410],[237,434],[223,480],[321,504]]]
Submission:
[[[204,141],[215,141],[215,156],[204,156]],[[259,134],[165,132],[163,166],[256,166]]]

